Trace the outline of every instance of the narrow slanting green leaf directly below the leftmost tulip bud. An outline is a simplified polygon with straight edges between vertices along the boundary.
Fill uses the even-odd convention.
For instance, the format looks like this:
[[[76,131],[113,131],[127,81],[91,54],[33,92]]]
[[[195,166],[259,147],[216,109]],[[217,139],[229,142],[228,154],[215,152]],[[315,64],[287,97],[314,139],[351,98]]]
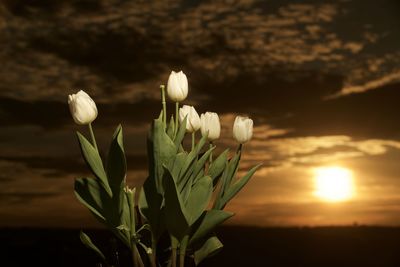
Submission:
[[[112,196],[111,188],[107,181],[107,175],[104,171],[103,163],[101,161],[99,152],[93,147],[93,145],[79,132],[76,133],[78,136],[79,146],[83,158],[87,165],[90,167],[94,175],[100,179],[102,186],[107,193]]]

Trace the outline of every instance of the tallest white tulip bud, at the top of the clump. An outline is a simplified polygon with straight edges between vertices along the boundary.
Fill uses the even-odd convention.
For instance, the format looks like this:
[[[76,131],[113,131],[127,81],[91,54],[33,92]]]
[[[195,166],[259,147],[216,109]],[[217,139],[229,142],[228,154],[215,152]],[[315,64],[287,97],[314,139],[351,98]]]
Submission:
[[[171,72],[168,78],[167,93],[168,97],[174,102],[185,100],[188,93],[188,82],[182,71]]]

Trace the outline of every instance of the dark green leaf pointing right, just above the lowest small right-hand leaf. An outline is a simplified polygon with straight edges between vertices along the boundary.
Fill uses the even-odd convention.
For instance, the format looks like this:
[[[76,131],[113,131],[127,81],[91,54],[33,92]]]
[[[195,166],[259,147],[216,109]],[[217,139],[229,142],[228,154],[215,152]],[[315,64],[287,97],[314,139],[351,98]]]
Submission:
[[[194,231],[189,244],[196,243],[210,234],[218,225],[232,217],[234,213],[223,210],[208,210],[200,218],[199,225]],[[197,223],[197,222],[196,222]]]

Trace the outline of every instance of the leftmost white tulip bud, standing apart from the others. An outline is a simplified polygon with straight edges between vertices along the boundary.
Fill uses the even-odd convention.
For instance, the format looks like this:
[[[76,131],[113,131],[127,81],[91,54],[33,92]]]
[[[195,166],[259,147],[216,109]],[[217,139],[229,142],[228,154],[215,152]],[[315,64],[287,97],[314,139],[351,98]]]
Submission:
[[[77,124],[89,124],[97,117],[96,103],[82,90],[68,96],[68,105],[72,118]]]

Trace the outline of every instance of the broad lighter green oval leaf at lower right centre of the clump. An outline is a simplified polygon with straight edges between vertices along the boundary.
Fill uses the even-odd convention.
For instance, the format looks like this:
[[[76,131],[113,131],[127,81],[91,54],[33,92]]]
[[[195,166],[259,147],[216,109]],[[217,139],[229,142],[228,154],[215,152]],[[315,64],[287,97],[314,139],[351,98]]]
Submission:
[[[213,191],[211,177],[205,176],[195,183],[185,205],[189,225],[192,225],[207,208]]]

